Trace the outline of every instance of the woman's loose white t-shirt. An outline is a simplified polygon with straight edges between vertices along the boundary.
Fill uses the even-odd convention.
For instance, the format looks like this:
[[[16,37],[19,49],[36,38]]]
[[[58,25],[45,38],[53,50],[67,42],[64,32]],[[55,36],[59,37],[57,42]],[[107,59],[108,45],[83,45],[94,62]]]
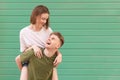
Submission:
[[[20,31],[21,52],[32,45],[44,48],[46,40],[48,39],[50,33],[52,33],[52,29],[50,27],[48,29],[43,27],[40,31],[35,32],[30,29],[30,26],[27,26]]]

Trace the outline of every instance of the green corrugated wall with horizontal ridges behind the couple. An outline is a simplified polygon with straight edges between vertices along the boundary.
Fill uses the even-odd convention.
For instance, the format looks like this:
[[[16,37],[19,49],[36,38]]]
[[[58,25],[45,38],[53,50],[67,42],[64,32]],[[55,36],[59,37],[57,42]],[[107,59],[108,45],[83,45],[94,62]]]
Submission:
[[[0,80],[19,80],[19,31],[39,4],[65,37],[59,80],[120,80],[120,0],[0,0]]]

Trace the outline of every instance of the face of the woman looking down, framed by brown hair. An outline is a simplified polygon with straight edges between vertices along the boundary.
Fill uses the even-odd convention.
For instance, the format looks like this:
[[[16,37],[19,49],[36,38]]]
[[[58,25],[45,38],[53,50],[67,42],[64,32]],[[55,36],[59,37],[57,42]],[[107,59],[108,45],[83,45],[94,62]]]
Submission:
[[[39,24],[41,26],[44,26],[47,22],[47,19],[49,18],[48,13],[43,13],[36,18],[36,24]]]

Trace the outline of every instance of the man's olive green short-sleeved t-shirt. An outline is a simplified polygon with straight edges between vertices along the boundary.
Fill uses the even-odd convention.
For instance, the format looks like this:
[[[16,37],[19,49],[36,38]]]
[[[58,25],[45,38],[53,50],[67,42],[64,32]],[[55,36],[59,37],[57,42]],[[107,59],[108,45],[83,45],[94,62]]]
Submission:
[[[43,50],[42,50],[43,53]],[[47,57],[43,53],[42,58],[34,56],[33,49],[20,55],[21,62],[29,61],[28,80],[51,80],[53,72],[53,61],[56,55]]]

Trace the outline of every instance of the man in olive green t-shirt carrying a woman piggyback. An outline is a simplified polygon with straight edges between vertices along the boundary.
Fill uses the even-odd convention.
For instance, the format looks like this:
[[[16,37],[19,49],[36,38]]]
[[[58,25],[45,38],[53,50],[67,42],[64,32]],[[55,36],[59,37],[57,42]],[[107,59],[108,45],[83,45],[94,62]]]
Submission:
[[[20,63],[17,63],[17,65],[19,64],[21,66],[21,63],[29,61],[28,80],[52,80],[53,61],[57,56],[55,53],[63,44],[63,36],[59,32],[53,32],[46,42],[45,49],[41,49],[43,54],[42,58],[36,57],[33,49],[29,49],[19,56]],[[18,68],[20,69],[19,66]]]

